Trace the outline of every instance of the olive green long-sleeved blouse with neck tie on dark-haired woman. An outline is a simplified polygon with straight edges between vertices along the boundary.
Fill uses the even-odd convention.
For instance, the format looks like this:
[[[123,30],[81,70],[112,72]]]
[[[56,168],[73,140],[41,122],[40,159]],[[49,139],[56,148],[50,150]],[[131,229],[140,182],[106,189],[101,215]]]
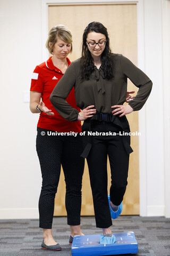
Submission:
[[[149,77],[121,54],[113,54],[113,78],[104,79],[102,66],[92,72],[88,80],[81,79],[80,59],[67,68],[55,86],[50,101],[65,119],[77,121],[79,111],[67,102],[67,95],[74,87],[77,106],[84,109],[94,105],[98,113],[111,114],[113,105],[123,105],[126,100],[127,78],[139,88],[135,98],[129,102],[133,110],[140,110],[149,97],[152,82]]]

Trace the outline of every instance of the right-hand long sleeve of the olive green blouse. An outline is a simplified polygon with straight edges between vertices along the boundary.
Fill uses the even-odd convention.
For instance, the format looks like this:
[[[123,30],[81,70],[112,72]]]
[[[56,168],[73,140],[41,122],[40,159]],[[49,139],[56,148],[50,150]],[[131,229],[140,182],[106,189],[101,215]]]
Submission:
[[[124,56],[121,57],[121,65],[123,73],[132,81],[132,83],[139,88],[137,95],[129,105],[133,110],[140,110],[147,101],[152,89],[152,82],[150,78],[137,68],[129,59]]]

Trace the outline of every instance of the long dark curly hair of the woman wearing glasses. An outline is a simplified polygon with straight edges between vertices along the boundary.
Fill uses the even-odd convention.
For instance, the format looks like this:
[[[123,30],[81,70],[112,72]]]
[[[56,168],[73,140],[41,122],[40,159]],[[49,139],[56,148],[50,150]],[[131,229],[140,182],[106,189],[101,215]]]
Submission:
[[[113,77],[113,54],[111,53],[111,49],[109,47],[109,37],[107,33],[107,28],[105,28],[103,24],[97,21],[90,22],[83,33],[81,54],[81,77],[82,79],[89,79],[92,71],[94,71],[95,69],[91,53],[88,50],[87,46],[87,36],[92,31],[106,36],[105,50],[101,54],[101,68],[103,70],[104,78],[111,79]]]

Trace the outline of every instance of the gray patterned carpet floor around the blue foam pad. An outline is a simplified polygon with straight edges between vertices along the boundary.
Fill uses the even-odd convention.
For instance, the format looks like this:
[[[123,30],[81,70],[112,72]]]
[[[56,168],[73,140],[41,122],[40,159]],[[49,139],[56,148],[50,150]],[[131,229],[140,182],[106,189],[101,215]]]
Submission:
[[[123,255],[170,256],[170,219],[120,216],[113,224],[113,233],[134,231],[138,241],[137,254]],[[70,231],[65,217],[55,217],[53,222],[53,235],[62,246],[62,251],[41,249],[43,233],[38,225],[38,220],[0,220],[0,255],[71,256]],[[101,234],[101,230],[96,228],[94,217],[81,217],[81,230],[85,235]]]

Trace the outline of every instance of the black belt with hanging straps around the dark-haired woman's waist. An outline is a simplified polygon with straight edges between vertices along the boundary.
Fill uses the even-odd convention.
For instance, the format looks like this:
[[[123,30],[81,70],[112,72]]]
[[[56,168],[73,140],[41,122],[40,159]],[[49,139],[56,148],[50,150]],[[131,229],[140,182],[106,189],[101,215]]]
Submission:
[[[101,122],[112,122],[113,124],[121,127],[122,131],[128,132],[128,133],[130,132],[130,127],[129,127],[128,120],[126,119],[126,116],[118,117],[118,116],[113,116],[112,114],[97,113],[91,118],[84,120],[85,124],[89,123],[88,131],[91,131],[92,122],[94,122],[95,120],[101,121]],[[132,153],[133,150],[130,146],[129,136],[123,135],[122,138],[123,138],[123,144],[124,144],[126,153],[127,154]],[[92,146],[91,136],[88,136],[87,145],[84,148],[83,153],[81,154],[82,157],[87,158],[90,152],[91,146]]]

